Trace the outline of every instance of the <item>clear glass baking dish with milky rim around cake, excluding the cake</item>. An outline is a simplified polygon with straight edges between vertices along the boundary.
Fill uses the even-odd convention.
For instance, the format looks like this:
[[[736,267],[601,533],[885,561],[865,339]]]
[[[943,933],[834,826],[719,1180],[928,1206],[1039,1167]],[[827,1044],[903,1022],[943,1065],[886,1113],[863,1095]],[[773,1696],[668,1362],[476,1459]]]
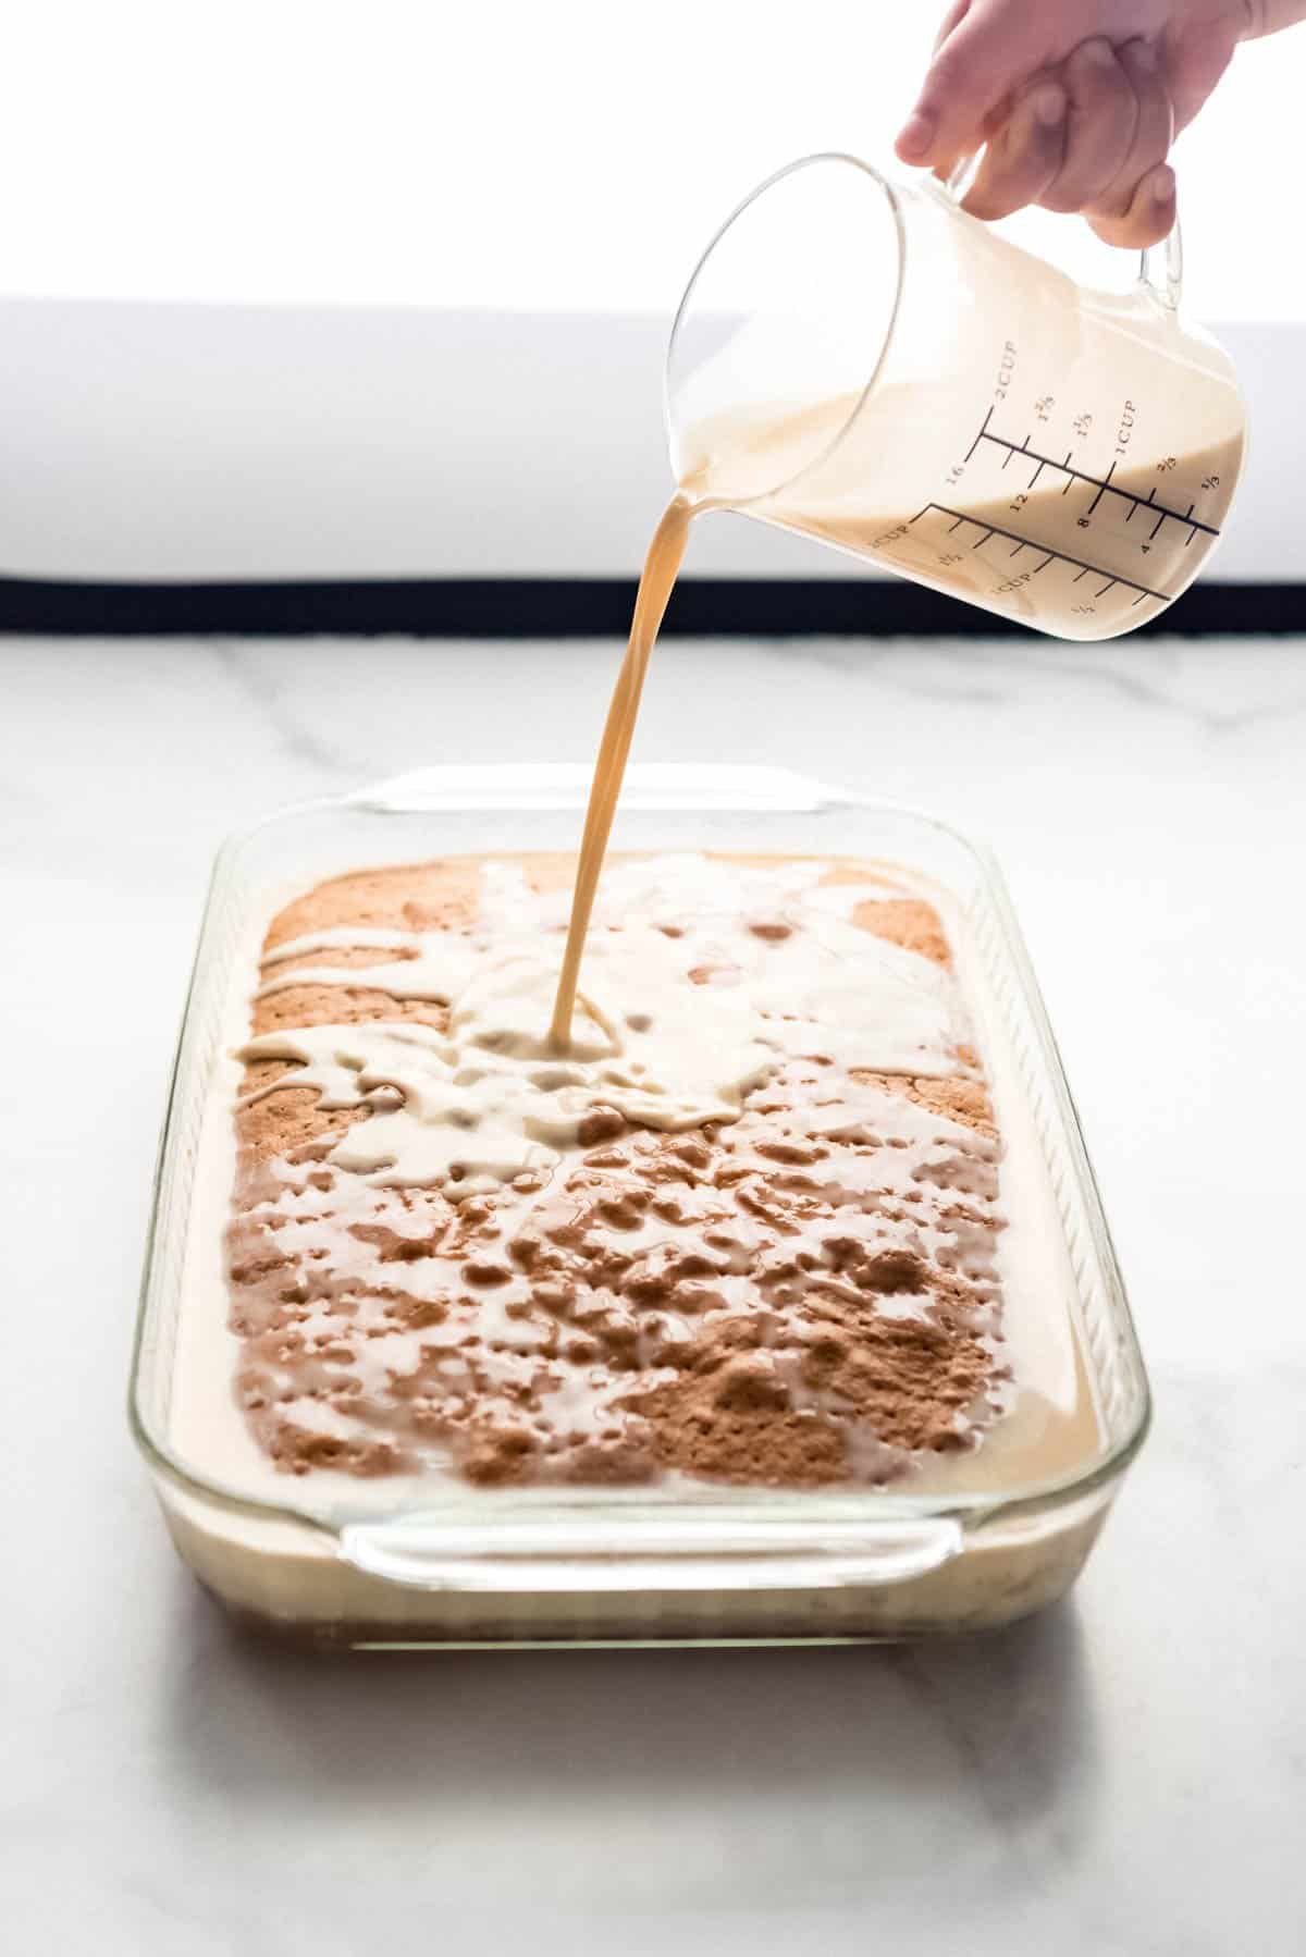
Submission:
[[[448,855],[572,851],[576,767],[439,767],[292,808],[219,853],[166,1110],[131,1374],[131,1429],[172,1540],[231,1611],[360,1650],[910,1638],[1004,1624],[1079,1573],[1149,1417],[1149,1395],[1079,1123],[1003,881],[928,816],[750,767],[632,769],[621,851],[881,859],[926,879],[967,941],[985,1059],[1006,1055],[1006,1119],[1028,1125],[1055,1219],[1049,1309],[1069,1299],[1096,1411],[1081,1460],[1036,1481],[773,1491],[476,1489],[384,1481],[345,1493],[221,1460],[178,1415],[196,1299],[215,1299],[227,1186],[206,1149],[270,916],[313,883]],[[206,1139],[208,1137],[208,1139]],[[1065,1282],[1061,1282],[1065,1278]],[[206,1393],[231,1395],[221,1339]],[[188,1395],[194,1399],[194,1393]],[[215,1405],[215,1401],[211,1401]],[[215,1429],[213,1429],[215,1431]],[[343,1478],[327,1478],[339,1481]]]

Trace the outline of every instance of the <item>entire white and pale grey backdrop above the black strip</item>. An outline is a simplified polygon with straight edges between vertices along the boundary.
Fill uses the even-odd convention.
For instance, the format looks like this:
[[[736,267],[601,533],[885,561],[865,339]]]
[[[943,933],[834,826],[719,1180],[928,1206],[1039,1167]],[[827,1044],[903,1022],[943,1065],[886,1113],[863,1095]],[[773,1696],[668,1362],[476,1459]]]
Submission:
[[[41,0],[0,65],[0,571],[630,573],[697,247],[791,155],[885,159],[932,0]],[[656,31],[654,31],[656,29]],[[1226,577],[1296,577],[1306,29],[1183,139],[1245,378]],[[1018,223],[1124,284],[1085,227]],[[1284,233],[1288,243],[1277,245]],[[738,519],[691,569],[846,573]]]

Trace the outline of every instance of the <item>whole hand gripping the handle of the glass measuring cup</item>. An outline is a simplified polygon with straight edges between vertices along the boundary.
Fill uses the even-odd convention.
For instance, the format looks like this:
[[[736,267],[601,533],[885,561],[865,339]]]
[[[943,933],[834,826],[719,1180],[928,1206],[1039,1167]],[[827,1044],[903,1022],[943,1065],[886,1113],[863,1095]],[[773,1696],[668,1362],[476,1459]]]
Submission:
[[[1155,245],[1175,223],[1171,143],[1263,14],[1257,0],[956,0],[897,153],[946,176],[983,149],[963,200],[975,217],[1042,204],[1083,211],[1108,245]]]

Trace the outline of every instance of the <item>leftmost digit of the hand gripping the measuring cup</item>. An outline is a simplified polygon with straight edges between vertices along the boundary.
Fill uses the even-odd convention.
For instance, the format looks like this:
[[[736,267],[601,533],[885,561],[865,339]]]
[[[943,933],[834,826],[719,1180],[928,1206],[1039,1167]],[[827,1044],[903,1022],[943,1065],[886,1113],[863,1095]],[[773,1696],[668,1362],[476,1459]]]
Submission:
[[[1038,12],[1020,0],[954,8],[895,145],[903,162],[952,162],[983,147],[987,117],[1048,59]]]

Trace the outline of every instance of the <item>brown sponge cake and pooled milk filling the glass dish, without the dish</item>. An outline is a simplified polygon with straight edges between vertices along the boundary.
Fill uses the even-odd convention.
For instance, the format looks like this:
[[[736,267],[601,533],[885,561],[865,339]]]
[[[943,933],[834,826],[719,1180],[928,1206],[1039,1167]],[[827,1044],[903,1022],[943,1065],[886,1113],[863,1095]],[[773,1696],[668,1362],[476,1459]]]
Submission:
[[[368,869],[272,918],[223,1233],[262,1470],[928,1491],[1093,1454],[946,902],[879,863],[615,857],[556,1053],[570,869]]]

